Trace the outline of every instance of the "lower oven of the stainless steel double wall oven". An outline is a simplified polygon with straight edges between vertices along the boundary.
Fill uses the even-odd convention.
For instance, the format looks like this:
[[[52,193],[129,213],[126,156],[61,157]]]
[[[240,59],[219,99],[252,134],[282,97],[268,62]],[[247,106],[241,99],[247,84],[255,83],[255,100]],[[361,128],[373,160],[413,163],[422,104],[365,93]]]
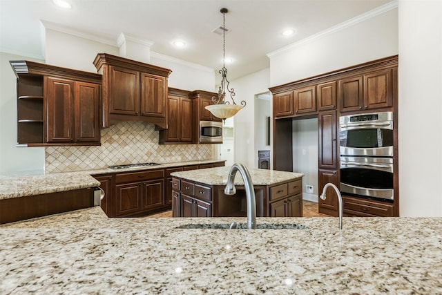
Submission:
[[[394,200],[393,159],[340,157],[340,191],[352,196]]]

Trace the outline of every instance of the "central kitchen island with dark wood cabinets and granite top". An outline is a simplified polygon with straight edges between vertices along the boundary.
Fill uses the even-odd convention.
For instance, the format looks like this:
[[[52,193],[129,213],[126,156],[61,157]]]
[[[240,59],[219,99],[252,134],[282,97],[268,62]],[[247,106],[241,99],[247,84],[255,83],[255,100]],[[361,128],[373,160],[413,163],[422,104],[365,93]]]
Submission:
[[[236,194],[224,193],[230,167],[171,173],[173,217],[246,216],[244,181],[236,173]],[[248,169],[256,196],[256,216],[302,216],[302,173]]]

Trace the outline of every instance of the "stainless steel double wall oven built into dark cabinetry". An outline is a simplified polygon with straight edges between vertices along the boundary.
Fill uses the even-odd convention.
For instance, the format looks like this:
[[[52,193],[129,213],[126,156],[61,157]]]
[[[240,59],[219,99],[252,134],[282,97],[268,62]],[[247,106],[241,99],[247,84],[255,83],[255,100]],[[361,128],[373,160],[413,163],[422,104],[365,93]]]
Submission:
[[[340,191],[393,202],[393,113],[339,118]]]

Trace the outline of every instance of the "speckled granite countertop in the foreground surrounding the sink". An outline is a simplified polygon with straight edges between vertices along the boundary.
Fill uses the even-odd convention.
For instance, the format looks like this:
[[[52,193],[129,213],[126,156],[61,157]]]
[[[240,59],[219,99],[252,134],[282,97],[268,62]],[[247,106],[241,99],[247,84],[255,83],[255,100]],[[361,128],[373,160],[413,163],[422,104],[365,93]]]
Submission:
[[[99,207],[0,227],[0,294],[441,294],[442,218],[258,218],[309,229],[176,229],[245,218],[108,219]]]

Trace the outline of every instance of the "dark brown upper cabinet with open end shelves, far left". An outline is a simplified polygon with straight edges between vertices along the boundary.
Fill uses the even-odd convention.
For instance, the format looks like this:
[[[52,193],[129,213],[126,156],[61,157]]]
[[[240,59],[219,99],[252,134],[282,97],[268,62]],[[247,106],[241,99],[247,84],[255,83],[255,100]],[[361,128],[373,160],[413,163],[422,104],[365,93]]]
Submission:
[[[99,145],[102,76],[33,61],[10,61],[17,75],[17,142]]]

